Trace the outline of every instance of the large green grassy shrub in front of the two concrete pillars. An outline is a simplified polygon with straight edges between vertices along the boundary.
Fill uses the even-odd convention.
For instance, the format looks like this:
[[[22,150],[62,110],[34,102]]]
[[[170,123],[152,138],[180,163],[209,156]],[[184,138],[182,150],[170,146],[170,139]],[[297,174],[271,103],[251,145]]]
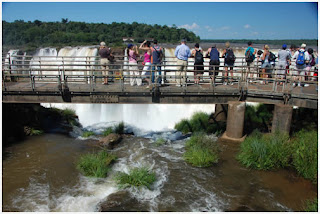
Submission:
[[[289,165],[289,136],[285,133],[262,135],[254,131],[241,143],[237,159],[246,167],[274,169]]]

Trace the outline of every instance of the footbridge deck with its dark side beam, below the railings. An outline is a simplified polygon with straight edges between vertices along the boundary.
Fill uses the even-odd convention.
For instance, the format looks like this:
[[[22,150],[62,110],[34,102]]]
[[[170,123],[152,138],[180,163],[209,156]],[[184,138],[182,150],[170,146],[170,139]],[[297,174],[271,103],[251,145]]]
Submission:
[[[243,84],[243,83],[241,83]],[[6,82],[3,88],[3,102],[75,102],[75,103],[227,103],[233,100],[247,100],[264,103],[283,103],[284,96],[290,94],[288,104],[317,108],[318,91],[316,85],[292,87],[269,83],[241,85],[188,84],[187,87],[164,85],[146,88],[130,84],[110,83],[95,85],[68,83],[70,99],[63,100],[62,88],[58,83],[36,82],[34,89],[30,82]],[[245,92],[245,98],[241,98]]]

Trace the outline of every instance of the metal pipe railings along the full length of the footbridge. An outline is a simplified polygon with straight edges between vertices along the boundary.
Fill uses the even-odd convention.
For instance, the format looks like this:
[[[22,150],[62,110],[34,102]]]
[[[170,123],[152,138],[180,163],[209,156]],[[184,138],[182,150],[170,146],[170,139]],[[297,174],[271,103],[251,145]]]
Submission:
[[[70,84],[90,84],[90,90],[96,90],[96,85],[103,81],[106,76],[110,80],[111,84],[119,84],[121,91],[125,90],[125,85],[129,85],[130,78],[149,78],[151,80],[152,73],[154,73],[155,79],[161,78],[166,80],[166,85],[176,85],[177,79],[186,78],[187,84],[183,86],[184,89],[194,84],[194,60],[191,58],[188,62],[187,72],[185,76],[179,76],[176,74],[177,64],[174,57],[166,57],[163,60],[161,66],[161,74],[158,71],[150,70],[149,74],[141,75],[143,66],[138,63],[138,69],[132,70],[128,65],[128,60],[124,56],[119,56],[121,59],[117,59],[114,63],[109,64],[108,75],[102,75],[103,71],[106,71],[100,64],[100,59],[97,56],[85,56],[85,57],[32,57],[26,60],[26,57],[22,59],[22,56],[14,56],[15,59],[3,59],[2,62],[2,79],[3,90],[9,90],[10,86],[8,82],[28,82],[30,88],[35,91],[37,85],[41,83],[54,83],[57,88],[61,90],[63,87],[68,87]],[[37,60],[35,60],[37,58]],[[59,58],[59,60],[58,60]],[[83,61],[83,59],[85,59]],[[252,63],[252,66],[246,66],[244,57],[237,57],[235,66],[232,66],[232,76],[230,76],[230,70],[225,71],[226,66],[223,66],[223,59],[219,66],[210,66],[209,60],[205,59],[203,75],[201,75],[200,86],[207,85],[210,90],[213,90],[221,85],[224,81],[237,85],[238,88],[249,88],[251,82],[257,85],[263,83],[269,83],[272,87],[268,89],[255,89],[255,90],[267,90],[270,92],[284,92],[286,93],[293,89],[293,84],[300,82],[301,84],[318,85],[317,76],[313,76],[313,73],[317,72],[318,67],[312,67],[311,70],[305,74],[300,75],[301,71],[295,69],[294,62],[290,69],[278,69],[278,67],[271,67],[267,71],[267,75],[263,76],[262,69],[258,62]],[[212,70],[209,70],[209,69]],[[215,68],[218,70],[215,71]],[[230,69],[230,68],[228,68]],[[284,74],[279,74],[282,71]],[[284,72],[283,72],[284,71]],[[134,74],[139,72],[139,75]],[[212,72],[212,75],[209,75]],[[215,74],[218,72],[218,75]],[[228,73],[228,75],[226,75]],[[108,87],[108,86],[106,86]],[[153,87],[160,87],[160,85],[154,84]],[[208,89],[209,90],[209,89]]]

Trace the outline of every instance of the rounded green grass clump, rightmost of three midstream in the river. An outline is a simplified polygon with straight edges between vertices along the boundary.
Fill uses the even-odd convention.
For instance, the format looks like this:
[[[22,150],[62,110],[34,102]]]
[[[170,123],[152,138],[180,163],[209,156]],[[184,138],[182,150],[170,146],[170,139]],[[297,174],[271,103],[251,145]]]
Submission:
[[[196,167],[208,167],[218,162],[218,145],[205,133],[196,133],[186,142],[183,155],[186,162]]]

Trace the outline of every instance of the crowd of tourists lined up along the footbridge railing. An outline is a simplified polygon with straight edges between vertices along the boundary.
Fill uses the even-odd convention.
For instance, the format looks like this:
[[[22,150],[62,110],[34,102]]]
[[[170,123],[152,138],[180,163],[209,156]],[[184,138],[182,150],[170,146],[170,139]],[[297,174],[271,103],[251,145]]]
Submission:
[[[139,55],[139,50],[144,52],[143,55]],[[151,88],[154,84],[160,86],[166,83],[166,72],[164,71],[164,74],[161,75],[164,51],[158,45],[157,40],[153,41],[153,45],[151,45],[150,41],[145,40],[139,47],[128,44],[126,51],[131,86],[141,86],[144,81],[147,83],[147,88]],[[112,72],[109,71],[109,64],[113,55],[111,49],[104,42],[100,43],[99,55],[104,70],[103,75],[106,76],[103,84],[108,84],[107,76],[112,75]],[[212,45],[204,56],[204,51],[198,43],[194,45],[194,49],[191,51],[186,44],[186,40],[183,39],[181,44],[175,48],[174,55],[177,65],[176,86],[178,87],[187,84],[189,58],[194,59],[194,84],[200,84],[203,78],[205,70],[204,58],[209,58],[208,67],[211,83],[215,84],[217,82],[219,72],[222,72],[222,77],[219,78],[222,78],[223,85],[233,85],[235,82],[233,69],[236,56],[229,42],[225,44],[221,54],[216,45]],[[139,58],[143,59],[142,70],[138,67]],[[223,65],[220,65],[221,58],[224,59]],[[312,48],[306,49],[306,44],[301,44],[300,48],[291,45],[290,49],[286,44],[283,44],[276,56],[275,53],[270,51],[268,45],[264,45],[263,50],[257,50],[252,47],[252,42],[248,42],[244,59],[246,62],[244,78],[249,83],[260,79],[261,84],[268,84],[269,78],[277,78],[277,80],[280,80],[277,84],[282,85],[288,76],[291,76],[290,81],[292,81],[294,87],[307,87],[309,85],[303,84],[303,82],[317,81],[317,68],[312,69],[312,67],[318,63],[318,58],[315,58]],[[223,67],[223,70],[220,70],[220,67]],[[157,75],[156,72],[158,73]]]

